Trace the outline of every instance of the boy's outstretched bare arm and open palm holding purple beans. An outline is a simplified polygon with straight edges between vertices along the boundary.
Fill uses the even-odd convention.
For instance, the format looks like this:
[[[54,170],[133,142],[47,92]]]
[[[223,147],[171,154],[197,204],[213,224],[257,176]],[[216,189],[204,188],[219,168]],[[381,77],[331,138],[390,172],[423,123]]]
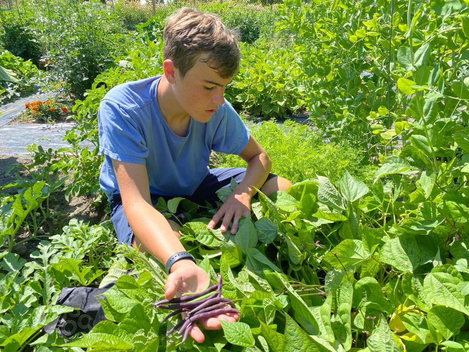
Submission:
[[[112,159],[112,166],[119,185],[124,213],[128,223],[144,250],[165,264],[172,254],[184,251],[168,220],[151,204],[146,166]],[[142,250],[143,248],[140,248]],[[179,260],[171,266],[171,274],[165,285],[165,297],[202,291],[207,287],[208,275],[190,260]],[[220,314],[202,321],[208,330],[221,329],[220,320],[234,322],[238,314]],[[204,341],[204,334],[195,325],[191,332],[197,342]]]

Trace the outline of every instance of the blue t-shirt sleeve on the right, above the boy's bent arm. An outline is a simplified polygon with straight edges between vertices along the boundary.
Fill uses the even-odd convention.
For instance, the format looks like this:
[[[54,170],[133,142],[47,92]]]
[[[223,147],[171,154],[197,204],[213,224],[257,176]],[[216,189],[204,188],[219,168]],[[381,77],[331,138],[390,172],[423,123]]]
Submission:
[[[249,141],[249,130],[243,120],[225,100],[225,113],[213,136],[212,150],[225,154],[241,154]]]

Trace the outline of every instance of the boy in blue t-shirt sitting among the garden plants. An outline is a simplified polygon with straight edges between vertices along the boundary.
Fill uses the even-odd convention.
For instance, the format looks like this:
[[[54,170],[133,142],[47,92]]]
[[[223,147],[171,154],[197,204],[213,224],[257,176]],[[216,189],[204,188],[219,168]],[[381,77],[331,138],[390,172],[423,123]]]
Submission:
[[[183,8],[164,29],[163,75],[111,89],[98,112],[100,151],[105,154],[100,184],[111,201],[111,220],[119,242],[136,245],[166,264],[165,296],[171,299],[206,287],[208,277],[179,242],[178,225],[153,205],[158,198],[185,197],[214,202],[215,191],[238,182],[209,222],[227,231],[233,220],[250,217],[253,186],[269,195],[291,182],[269,174],[271,160],[223,97],[235,75],[240,52],[235,34],[212,14]],[[211,151],[238,154],[248,166],[208,169]],[[267,180],[267,181],[266,181]],[[205,329],[220,329],[212,317]],[[191,330],[204,340],[198,327]]]

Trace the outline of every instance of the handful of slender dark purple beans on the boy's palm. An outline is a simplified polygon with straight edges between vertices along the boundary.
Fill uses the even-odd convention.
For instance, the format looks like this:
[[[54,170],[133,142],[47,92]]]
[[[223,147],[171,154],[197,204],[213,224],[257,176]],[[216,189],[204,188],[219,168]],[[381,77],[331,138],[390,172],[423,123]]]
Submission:
[[[162,300],[153,303],[156,308],[175,309],[168,314],[161,322],[167,321],[174,315],[185,313],[185,317],[172,327],[166,336],[169,336],[175,330],[178,334],[183,334],[182,342],[186,341],[189,331],[201,319],[207,319],[219,314],[238,313],[233,301],[221,296],[222,280],[221,275],[218,276],[218,283],[210,286],[205,291],[189,294],[171,300]],[[212,293],[213,292],[213,293]],[[211,294],[212,293],[212,294]]]

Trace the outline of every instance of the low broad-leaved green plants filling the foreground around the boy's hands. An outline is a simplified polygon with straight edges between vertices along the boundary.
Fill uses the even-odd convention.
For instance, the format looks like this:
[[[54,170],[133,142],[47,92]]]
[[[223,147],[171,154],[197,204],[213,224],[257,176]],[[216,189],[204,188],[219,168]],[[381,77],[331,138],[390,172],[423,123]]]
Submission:
[[[220,199],[234,187],[222,189]],[[3,252],[0,346],[6,351],[26,343],[41,345],[38,351],[466,350],[468,236],[462,224],[468,213],[441,199],[421,204],[422,212],[434,208],[432,217],[393,221],[404,215],[395,190],[391,178],[371,189],[348,173],[334,184],[324,176],[307,179],[270,198],[259,193],[252,218],[241,221],[236,235],[207,229],[213,210],[204,216],[182,198],[161,199],[157,208],[168,216],[182,207],[181,218],[191,221],[183,224],[181,241],[213,280],[222,276],[222,295],[241,312],[238,322],[208,331],[200,345],[192,339],[182,343],[177,334],[167,341],[161,337],[177,318],[161,323],[167,313],[152,305],[164,298],[160,264],[121,246],[117,252],[134,262],[137,278],[125,275],[128,264],[111,265],[108,249],[98,245],[111,238],[108,227],[72,220],[61,236],[39,246],[33,254],[37,262]],[[100,299],[107,320],[68,342],[39,336],[44,324],[70,311],[54,305],[59,288],[89,285],[102,277],[103,267],[108,274],[101,285],[117,279]],[[24,314],[28,311],[32,315]]]

